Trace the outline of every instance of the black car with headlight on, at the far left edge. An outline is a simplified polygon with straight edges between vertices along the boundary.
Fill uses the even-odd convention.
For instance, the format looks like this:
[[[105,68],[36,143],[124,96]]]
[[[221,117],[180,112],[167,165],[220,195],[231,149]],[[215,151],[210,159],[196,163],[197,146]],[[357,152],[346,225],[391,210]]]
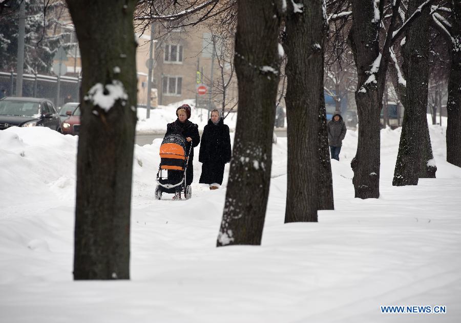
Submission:
[[[53,103],[43,98],[4,97],[0,100],[0,130],[11,126],[49,127],[61,131]]]

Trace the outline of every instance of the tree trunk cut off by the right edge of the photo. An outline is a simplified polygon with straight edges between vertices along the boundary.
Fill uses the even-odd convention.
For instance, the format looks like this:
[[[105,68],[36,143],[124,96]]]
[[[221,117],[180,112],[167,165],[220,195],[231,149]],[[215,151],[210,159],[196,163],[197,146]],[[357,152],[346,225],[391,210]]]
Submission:
[[[452,1],[452,47],[447,100],[447,162],[461,167],[461,2]]]

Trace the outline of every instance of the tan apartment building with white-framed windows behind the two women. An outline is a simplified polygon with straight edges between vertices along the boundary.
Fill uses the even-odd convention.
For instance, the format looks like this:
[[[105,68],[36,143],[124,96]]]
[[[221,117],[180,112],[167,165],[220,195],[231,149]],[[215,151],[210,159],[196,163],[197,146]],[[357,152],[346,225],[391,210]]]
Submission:
[[[211,102],[212,109],[221,109],[222,84],[227,83],[233,72],[232,52],[225,52],[221,42],[201,26],[178,27],[167,32],[158,24],[155,35],[153,84],[158,91],[158,103],[197,99],[199,106],[209,107]],[[226,90],[226,109],[237,102],[236,80],[234,74]],[[205,94],[198,93],[200,85],[201,90],[206,88]]]

